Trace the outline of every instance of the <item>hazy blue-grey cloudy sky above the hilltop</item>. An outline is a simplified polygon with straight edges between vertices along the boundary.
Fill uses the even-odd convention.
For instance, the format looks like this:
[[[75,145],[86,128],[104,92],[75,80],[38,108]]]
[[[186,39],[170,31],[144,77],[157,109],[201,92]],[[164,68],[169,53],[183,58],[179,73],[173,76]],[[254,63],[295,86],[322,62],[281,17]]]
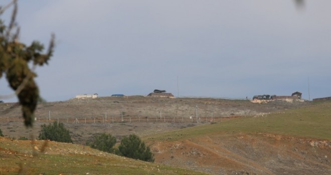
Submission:
[[[9,0],[1,0],[1,5]],[[54,56],[37,67],[47,101],[78,94],[252,98],[331,96],[331,1],[19,0],[20,41]],[[10,20],[12,8],[2,16]],[[0,95],[13,93],[4,77]],[[3,99],[17,101],[16,97]]]

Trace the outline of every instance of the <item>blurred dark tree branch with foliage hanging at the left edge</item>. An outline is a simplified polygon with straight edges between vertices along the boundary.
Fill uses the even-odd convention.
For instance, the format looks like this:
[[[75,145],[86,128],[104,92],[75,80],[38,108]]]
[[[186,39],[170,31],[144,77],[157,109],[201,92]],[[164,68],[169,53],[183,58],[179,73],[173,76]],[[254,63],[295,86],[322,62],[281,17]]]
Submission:
[[[7,81],[22,105],[24,123],[29,127],[33,125],[34,111],[39,99],[34,68],[48,63],[53,53],[54,35],[46,53],[42,53],[44,45],[39,41],[33,41],[30,45],[19,42],[20,27],[16,24],[17,0],[0,7],[0,15],[9,6],[14,6],[14,9],[8,26],[0,18],[0,78],[6,74]],[[29,64],[33,67],[30,68]]]

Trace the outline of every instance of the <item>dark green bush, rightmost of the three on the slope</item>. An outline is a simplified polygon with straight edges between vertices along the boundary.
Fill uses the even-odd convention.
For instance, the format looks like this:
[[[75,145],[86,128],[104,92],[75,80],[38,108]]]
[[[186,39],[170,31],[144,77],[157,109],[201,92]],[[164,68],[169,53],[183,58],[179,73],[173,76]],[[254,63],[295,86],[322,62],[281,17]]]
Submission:
[[[154,161],[149,146],[146,147],[145,143],[135,134],[124,136],[118,146],[118,150],[121,155],[129,158],[150,162]]]

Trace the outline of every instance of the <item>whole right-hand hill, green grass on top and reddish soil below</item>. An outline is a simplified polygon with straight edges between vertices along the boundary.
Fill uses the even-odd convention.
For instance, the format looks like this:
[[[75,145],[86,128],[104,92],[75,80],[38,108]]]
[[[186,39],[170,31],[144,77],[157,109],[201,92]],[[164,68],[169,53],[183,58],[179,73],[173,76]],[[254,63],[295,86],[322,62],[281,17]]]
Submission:
[[[331,174],[331,103],[145,137],[155,161],[213,174]]]

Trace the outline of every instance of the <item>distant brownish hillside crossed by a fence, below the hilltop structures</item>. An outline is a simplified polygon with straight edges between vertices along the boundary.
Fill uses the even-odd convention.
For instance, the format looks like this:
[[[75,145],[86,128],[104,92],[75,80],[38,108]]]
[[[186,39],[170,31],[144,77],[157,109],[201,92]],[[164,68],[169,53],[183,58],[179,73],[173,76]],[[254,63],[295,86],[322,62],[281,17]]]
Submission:
[[[30,137],[31,134],[37,137],[40,125],[59,120],[70,129],[75,143],[84,143],[99,132],[109,132],[118,138],[129,133],[144,136],[229,117],[254,116],[309,104],[283,101],[257,104],[249,100],[146,96],[73,98],[38,104],[35,127],[29,132],[22,124],[20,106],[0,106],[0,128],[8,137]]]

